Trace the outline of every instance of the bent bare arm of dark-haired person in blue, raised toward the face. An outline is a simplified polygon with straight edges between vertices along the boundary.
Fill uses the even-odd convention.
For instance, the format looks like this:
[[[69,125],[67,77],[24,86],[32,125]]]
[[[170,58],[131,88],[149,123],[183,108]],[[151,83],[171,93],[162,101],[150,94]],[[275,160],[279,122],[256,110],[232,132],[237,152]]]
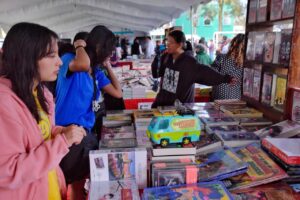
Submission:
[[[113,97],[122,98],[122,96],[123,96],[122,88],[121,88],[121,85],[120,85],[117,77],[115,76],[114,72],[112,71],[111,64],[109,62],[107,62],[107,60],[106,60],[104,62],[104,66],[107,69],[107,73],[108,73],[109,79],[111,81],[111,84],[107,84],[106,86],[104,86],[103,90]]]

